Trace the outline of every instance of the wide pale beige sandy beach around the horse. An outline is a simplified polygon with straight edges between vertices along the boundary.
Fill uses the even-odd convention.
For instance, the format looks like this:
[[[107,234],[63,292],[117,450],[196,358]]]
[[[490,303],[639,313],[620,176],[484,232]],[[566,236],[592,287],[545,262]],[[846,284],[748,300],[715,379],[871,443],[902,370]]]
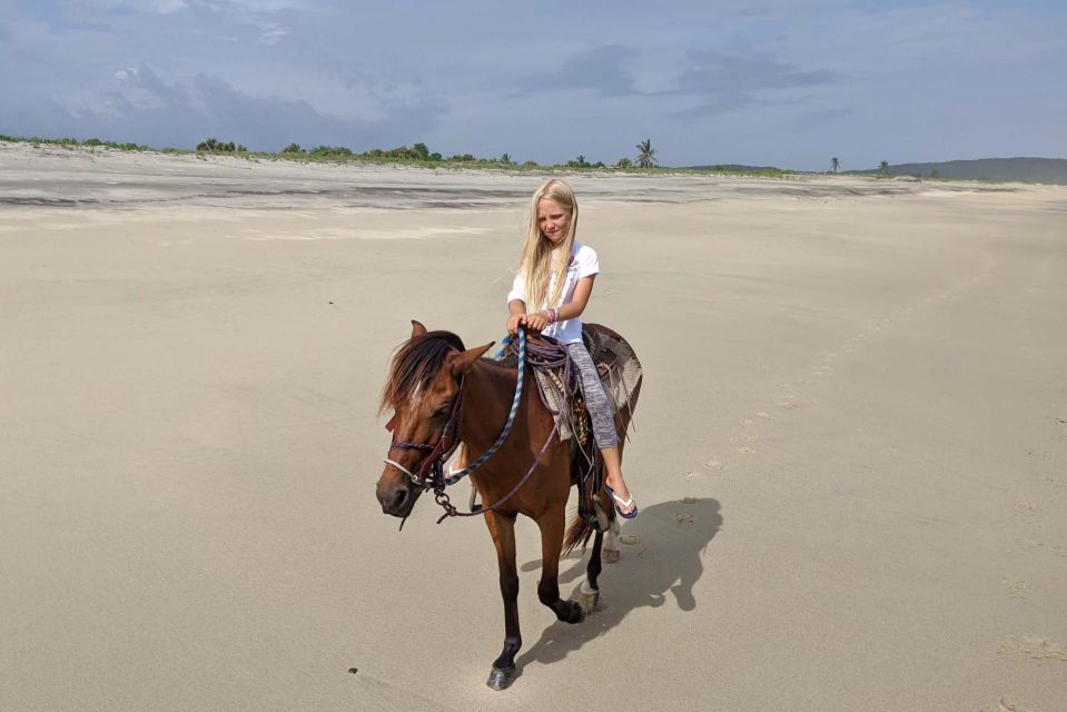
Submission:
[[[576,626],[520,524],[484,686],[376,402],[408,319],[501,337],[541,179],[0,145],[0,709],[1063,709],[1067,188],[841,176],[573,178],[642,513]]]

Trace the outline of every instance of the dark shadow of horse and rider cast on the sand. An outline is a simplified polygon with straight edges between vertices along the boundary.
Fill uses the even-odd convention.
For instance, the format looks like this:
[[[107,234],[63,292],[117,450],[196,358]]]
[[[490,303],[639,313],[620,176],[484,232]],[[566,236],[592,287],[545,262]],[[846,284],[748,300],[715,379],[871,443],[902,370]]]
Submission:
[[[546,627],[541,639],[515,661],[520,674],[527,663],[547,664],[565,659],[619,625],[635,609],[655,609],[673,601],[680,610],[693,611],[693,586],[703,574],[705,550],[721,528],[717,500],[686,497],[642,507],[638,518],[622,527],[623,541],[636,536],[638,542],[621,544],[619,563],[604,565],[600,576],[601,603],[577,625],[556,621]],[[561,562],[560,585],[562,589],[574,583],[572,599],[577,597],[585,580],[591,548],[576,550]],[[523,564],[522,571],[540,567],[537,558]]]

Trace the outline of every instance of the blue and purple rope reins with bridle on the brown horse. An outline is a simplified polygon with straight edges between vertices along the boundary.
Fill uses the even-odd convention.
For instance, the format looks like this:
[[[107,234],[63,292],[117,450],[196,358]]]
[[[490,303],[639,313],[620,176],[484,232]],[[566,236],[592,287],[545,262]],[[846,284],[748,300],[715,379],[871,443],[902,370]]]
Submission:
[[[500,353],[497,353],[496,358],[500,360],[503,358],[507,347],[510,346],[511,337],[505,336],[503,343],[501,344]],[[542,358],[542,363],[544,359]],[[460,444],[458,431],[460,431],[460,414],[462,411],[463,403],[463,378],[460,379],[460,389],[458,395],[456,396],[455,402],[452,405],[452,413],[448,415],[448,422],[445,424],[445,428],[441,434],[441,439],[437,441],[436,445],[429,445],[428,443],[407,443],[404,441],[393,441],[389,445],[389,449],[399,448],[399,449],[422,449],[429,451],[429,454],[423,461],[422,466],[418,468],[418,473],[415,474],[404,465],[399,464],[395,459],[385,458],[387,465],[396,467],[402,473],[407,475],[417,487],[422,487],[425,492],[426,490],[434,491],[434,501],[439,504],[445,513],[441,515],[441,518],[437,520],[437,524],[441,524],[443,521],[449,516],[474,516],[475,514],[485,514],[487,512],[493,512],[498,506],[504,504],[507,500],[512,497],[524,484],[530,479],[530,476],[534,473],[537,466],[541,464],[541,461],[544,458],[545,453],[549,451],[549,445],[552,444],[552,438],[555,437],[557,426],[553,425],[552,432],[549,433],[549,438],[545,441],[545,444],[542,446],[541,452],[537,454],[537,457],[534,459],[533,465],[530,469],[526,471],[526,474],[523,475],[522,479],[518,481],[511,492],[506,495],[494,502],[493,504],[481,507],[472,512],[460,512],[454,504],[452,504],[448,494],[445,492],[447,485],[453,485],[472,472],[481,467],[488,461],[490,457],[496,454],[496,451],[500,449],[501,445],[507,439],[508,434],[511,433],[512,425],[515,422],[515,414],[518,412],[518,404],[522,400],[522,389],[523,389],[523,378],[525,375],[526,366],[526,333],[524,329],[518,329],[518,374],[515,383],[515,397],[512,399],[512,407],[507,414],[507,419],[504,423],[504,428],[501,431],[500,436],[496,438],[496,442],[490,446],[477,459],[475,459],[471,465],[464,467],[458,472],[449,473],[448,476],[444,474],[444,462],[448,458],[449,455],[455,451],[456,446]],[[392,421],[391,421],[392,425]],[[427,475],[429,475],[429,482],[427,483]],[[403,523],[401,524],[403,526]]]

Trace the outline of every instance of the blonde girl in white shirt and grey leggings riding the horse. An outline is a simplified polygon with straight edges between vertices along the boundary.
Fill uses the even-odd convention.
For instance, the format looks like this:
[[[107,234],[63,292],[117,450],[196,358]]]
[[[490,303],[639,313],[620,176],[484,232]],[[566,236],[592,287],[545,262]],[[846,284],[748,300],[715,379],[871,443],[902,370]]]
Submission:
[[[622,477],[611,404],[582,343],[580,317],[593,293],[600,263],[591,247],[574,239],[576,227],[577,201],[571,187],[562,180],[549,180],[537,188],[530,201],[530,227],[515,266],[515,281],[507,294],[507,333],[516,334],[524,325],[566,345],[581,373],[593,437],[607,469],[607,494],[619,514],[632,520],[638,506]],[[530,305],[534,312],[527,310]]]

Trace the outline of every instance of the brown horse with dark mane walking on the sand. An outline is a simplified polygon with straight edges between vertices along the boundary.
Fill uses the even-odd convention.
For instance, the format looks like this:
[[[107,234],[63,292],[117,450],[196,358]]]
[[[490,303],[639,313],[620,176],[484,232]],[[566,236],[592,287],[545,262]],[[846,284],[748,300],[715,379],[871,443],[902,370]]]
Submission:
[[[431,458],[436,458],[439,466],[456,443],[462,442],[467,462],[473,462],[496,442],[511,412],[517,384],[514,367],[482,358],[492,343],[467,350],[455,334],[427,332],[418,322],[412,322],[412,326],[411,339],[393,357],[382,395],[382,411],[394,413],[389,422],[394,438],[389,457],[394,459],[387,461],[382,472],[377,497],[383,512],[402,518],[411,514],[415,501],[429,486],[429,481],[424,482],[422,477],[434,466]],[[579,543],[584,544],[594,534],[594,527],[576,516],[564,537],[567,496],[581,468],[572,463],[570,444],[556,437],[552,415],[534,393],[536,385],[528,377],[528,370],[527,366],[507,438],[471,474],[496,546],[504,599],[504,650],[493,662],[486,682],[495,690],[503,690],[514,680],[515,654],[522,646],[515,566],[516,516],[528,516],[541,528],[543,564],[537,597],[559,620],[567,623],[584,620],[585,609],[579,602],[560,597],[560,555]],[[615,418],[620,451],[640,389],[639,382],[630,394],[629,407],[621,408]],[[530,477],[523,482],[527,473]],[[600,497],[601,511],[613,520],[615,512],[606,494],[601,492]],[[614,522],[611,527],[609,535],[618,532]],[[595,532],[587,578],[582,586],[583,599],[590,607],[595,605],[599,595],[603,537],[603,532]]]

